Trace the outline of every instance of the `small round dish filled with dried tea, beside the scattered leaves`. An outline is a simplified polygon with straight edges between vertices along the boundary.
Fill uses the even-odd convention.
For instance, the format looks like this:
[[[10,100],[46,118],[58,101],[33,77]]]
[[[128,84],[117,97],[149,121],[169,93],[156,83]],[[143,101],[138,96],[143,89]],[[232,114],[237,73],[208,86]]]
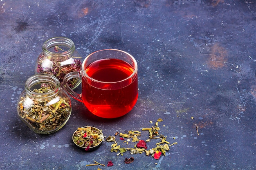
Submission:
[[[73,134],[74,143],[85,149],[85,151],[90,150],[90,148],[99,146],[104,139],[102,130],[94,128],[92,126],[85,126],[82,128],[77,128]]]

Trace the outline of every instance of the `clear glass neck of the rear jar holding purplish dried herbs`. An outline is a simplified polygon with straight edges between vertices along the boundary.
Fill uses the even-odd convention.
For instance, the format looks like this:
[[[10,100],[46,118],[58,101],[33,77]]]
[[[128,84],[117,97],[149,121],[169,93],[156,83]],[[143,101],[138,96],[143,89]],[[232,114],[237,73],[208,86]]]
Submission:
[[[45,57],[61,62],[73,56],[75,45],[69,38],[54,37],[46,40],[43,43],[42,49]]]

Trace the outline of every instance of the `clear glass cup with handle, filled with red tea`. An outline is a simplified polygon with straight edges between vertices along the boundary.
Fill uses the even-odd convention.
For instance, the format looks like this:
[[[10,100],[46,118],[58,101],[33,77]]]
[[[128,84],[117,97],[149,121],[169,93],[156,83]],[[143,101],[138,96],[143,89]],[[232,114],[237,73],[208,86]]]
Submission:
[[[138,99],[138,66],[132,55],[117,49],[104,49],[88,55],[80,72],[68,73],[66,91],[94,115],[116,118],[126,115]],[[74,92],[67,82],[82,79],[82,92]]]

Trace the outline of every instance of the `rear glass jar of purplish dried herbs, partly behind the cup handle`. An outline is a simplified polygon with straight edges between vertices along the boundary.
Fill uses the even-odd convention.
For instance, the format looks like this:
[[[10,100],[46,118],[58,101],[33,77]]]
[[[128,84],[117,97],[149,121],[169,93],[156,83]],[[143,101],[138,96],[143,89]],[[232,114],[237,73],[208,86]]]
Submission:
[[[81,57],[75,49],[74,42],[65,37],[54,37],[46,40],[36,62],[35,73],[54,75],[62,83],[67,73],[81,71]],[[68,82],[71,88],[76,88],[81,79],[74,78]]]

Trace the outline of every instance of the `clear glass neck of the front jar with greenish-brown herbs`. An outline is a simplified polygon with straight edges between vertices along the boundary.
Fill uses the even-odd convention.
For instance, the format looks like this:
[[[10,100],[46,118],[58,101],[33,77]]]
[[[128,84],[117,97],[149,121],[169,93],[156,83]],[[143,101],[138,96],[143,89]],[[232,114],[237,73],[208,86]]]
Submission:
[[[53,99],[58,96],[61,85],[59,80],[50,74],[33,75],[25,83],[25,91],[29,98]],[[45,91],[45,89],[48,89]]]

